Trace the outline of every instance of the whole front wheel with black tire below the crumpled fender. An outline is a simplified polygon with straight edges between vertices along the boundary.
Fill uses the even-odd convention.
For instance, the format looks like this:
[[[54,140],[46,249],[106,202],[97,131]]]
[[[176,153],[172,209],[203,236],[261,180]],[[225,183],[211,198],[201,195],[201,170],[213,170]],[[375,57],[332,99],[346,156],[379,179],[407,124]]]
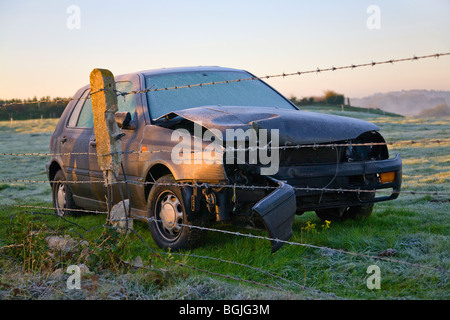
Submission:
[[[205,231],[190,227],[181,190],[172,175],[159,178],[148,196],[148,224],[153,240],[162,249],[190,249],[204,238]]]

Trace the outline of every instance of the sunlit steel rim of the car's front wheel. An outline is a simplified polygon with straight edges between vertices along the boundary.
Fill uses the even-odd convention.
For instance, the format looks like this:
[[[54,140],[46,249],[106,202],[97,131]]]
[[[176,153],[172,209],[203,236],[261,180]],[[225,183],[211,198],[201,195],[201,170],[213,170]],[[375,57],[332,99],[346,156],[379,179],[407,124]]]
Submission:
[[[167,241],[175,241],[183,229],[183,205],[171,191],[163,192],[156,201],[155,218],[158,232]]]

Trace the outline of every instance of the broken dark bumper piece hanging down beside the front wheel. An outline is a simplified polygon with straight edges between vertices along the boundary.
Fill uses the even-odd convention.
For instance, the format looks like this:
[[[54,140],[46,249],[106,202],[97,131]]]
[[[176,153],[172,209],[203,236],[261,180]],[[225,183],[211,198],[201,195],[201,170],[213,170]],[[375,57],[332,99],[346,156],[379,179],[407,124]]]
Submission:
[[[282,181],[270,178],[279,185],[265,198],[253,206],[253,211],[261,216],[269,233],[272,245],[272,253],[281,248],[292,236],[292,225],[294,224],[297,203],[294,189]]]

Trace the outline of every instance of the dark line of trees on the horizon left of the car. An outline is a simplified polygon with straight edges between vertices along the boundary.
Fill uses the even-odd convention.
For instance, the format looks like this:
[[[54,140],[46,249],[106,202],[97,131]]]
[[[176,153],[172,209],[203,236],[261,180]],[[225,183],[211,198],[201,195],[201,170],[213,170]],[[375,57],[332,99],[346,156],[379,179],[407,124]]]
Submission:
[[[59,118],[70,98],[0,99],[0,120]]]

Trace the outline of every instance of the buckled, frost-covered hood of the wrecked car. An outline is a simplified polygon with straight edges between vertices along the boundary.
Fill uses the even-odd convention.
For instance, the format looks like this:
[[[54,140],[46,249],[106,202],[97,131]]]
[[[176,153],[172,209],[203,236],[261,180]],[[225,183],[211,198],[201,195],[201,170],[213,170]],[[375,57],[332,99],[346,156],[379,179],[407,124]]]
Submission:
[[[355,139],[379,127],[363,120],[322,113],[267,107],[205,106],[163,116],[180,116],[206,129],[279,129],[280,143],[312,144]],[[162,118],[162,117],[161,117]]]

